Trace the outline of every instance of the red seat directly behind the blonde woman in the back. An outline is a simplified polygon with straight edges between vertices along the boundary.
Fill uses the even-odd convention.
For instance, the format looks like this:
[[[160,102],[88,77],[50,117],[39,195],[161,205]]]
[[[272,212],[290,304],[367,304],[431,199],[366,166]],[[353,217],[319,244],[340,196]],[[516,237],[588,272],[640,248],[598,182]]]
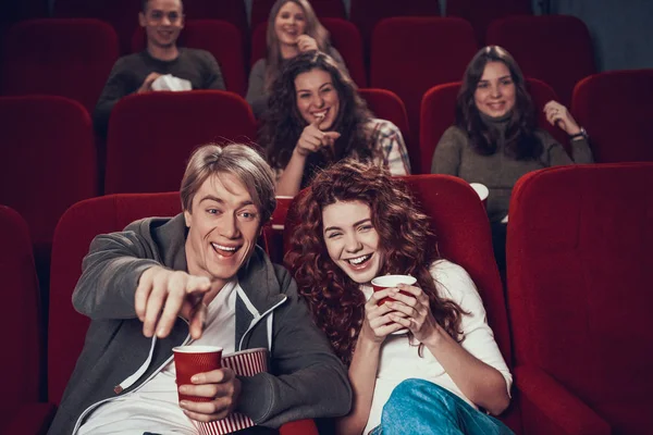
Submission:
[[[362,61],[362,41],[356,26],[342,18],[320,18],[320,23],[329,30],[331,44],[342,54],[354,83],[358,87],[365,87],[367,73]],[[251,35],[251,65],[264,58],[268,52],[267,32],[268,23],[263,22],[256,27]]]

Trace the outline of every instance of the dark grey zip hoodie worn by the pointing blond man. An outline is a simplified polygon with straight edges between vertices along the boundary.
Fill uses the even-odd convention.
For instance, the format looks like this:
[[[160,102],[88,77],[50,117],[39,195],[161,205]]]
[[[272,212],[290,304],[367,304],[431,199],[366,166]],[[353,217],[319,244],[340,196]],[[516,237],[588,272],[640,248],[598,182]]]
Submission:
[[[168,337],[145,337],[134,308],[146,269],[187,270],[185,238],[178,214],[140,220],[93,240],[73,294],[75,309],[91,323],[49,434],[75,433],[97,406],[138,388],[172,360],[174,346],[189,339],[181,318]],[[241,377],[236,410],[267,427],[346,414],[352,405],[346,369],[311,322],[289,273],[257,247],[238,271],[238,283],[236,350],[270,348],[271,358],[270,373]]]

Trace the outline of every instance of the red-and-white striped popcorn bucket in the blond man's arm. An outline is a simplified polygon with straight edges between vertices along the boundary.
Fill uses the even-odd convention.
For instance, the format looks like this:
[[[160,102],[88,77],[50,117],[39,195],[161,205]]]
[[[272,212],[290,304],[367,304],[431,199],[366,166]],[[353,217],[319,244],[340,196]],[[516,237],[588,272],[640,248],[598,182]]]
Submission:
[[[254,376],[268,371],[268,349],[247,349],[222,358],[222,365],[238,376]],[[254,421],[239,412],[232,412],[222,420],[197,422],[200,435],[225,435],[254,426]]]

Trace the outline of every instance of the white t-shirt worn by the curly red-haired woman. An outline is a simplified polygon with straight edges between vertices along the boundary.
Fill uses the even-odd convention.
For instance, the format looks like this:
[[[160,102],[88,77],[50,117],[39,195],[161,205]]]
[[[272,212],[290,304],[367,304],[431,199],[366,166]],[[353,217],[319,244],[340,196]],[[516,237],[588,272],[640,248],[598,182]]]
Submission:
[[[461,346],[472,356],[488,365],[498,370],[506,380],[508,394],[513,384],[513,376],[498,350],[494,334],[488,325],[485,308],[476,285],[465,269],[446,260],[434,262],[430,269],[431,276],[435,279],[438,293],[442,298],[453,300],[469,315],[461,318],[461,331],[465,339]],[[369,299],[373,293],[370,286],[360,286]],[[417,339],[410,345],[407,335],[390,335],[381,346],[377,384],[372,398],[372,407],[364,433],[367,434],[381,423],[383,406],[390,398],[393,389],[408,378],[430,381],[454,393],[477,408],[469,400],[451,376],[444,371],[438,359],[424,348],[422,357],[418,355]]]

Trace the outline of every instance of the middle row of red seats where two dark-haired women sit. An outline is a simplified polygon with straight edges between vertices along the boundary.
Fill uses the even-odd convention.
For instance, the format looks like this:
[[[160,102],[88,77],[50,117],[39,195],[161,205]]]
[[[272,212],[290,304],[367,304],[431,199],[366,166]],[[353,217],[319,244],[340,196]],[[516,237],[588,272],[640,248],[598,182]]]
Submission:
[[[590,132],[597,162],[653,161],[651,80],[653,70],[609,72],[588,77],[577,87],[572,113]],[[542,117],[541,108],[555,94],[542,82],[530,79],[529,85]],[[412,173],[430,172],[435,146],[454,122],[458,87],[457,83],[440,85],[426,94],[421,140],[408,142]],[[396,95],[382,89],[360,92],[378,116],[408,136],[406,110]],[[0,203],[27,220],[37,261],[46,268],[57,221],[76,201],[101,194],[176,190],[185,161],[197,146],[256,139],[249,105],[232,92],[211,90],[124,98],[111,116],[102,159],[97,156],[89,115],[77,102],[61,97],[2,97],[0,120],[4,156]],[[542,119],[540,125],[567,144],[557,128]]]

